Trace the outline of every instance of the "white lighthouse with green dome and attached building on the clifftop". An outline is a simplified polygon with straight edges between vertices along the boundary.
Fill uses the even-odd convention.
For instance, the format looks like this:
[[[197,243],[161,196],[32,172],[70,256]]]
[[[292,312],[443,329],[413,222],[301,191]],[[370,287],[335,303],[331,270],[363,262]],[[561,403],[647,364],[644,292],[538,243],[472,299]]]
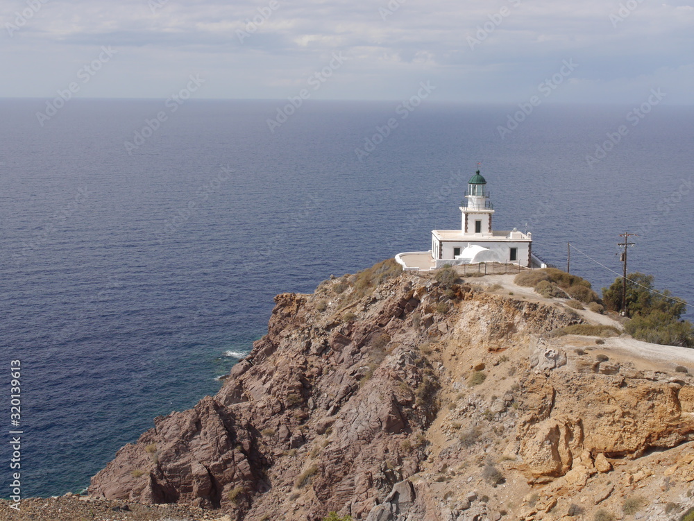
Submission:
[[[494,206],[489,201],[486,180],[477,170],[468,181],[465,200],[460,206],[460,230],[432,230],[432,249],[428,252],[407,252],[396,255],[405,269],[428,271],[445,264],[477,264],[500,262],[541,267],[541,260],[532,255],[532,234],[494,230]]]

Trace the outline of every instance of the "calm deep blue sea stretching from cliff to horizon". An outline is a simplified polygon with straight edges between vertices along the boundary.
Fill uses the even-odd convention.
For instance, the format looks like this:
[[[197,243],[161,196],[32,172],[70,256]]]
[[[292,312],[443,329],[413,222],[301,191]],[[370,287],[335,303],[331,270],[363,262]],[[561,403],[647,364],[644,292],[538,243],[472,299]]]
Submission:
[[[527,225],[547,262],[564,268],[571,241],[620,271],[618,234],[636,232],[629,271],[694,302],[694,108],[633,126],[627,106],[542,105],[502,139],[517,107],[423,104],[403,119],[398,103],[307,101],[271,132],[283,105],[76,99],[40,126],[45,101],[0,100],[1,402],[19,359],[24,495],[81,490],[155,416],[217,391],[276,293],[459,227],[477,162],[495,228]],[[571,267],[598,289],[616,276],[577,252]],[[6,497],[9,472],[0,481]]]

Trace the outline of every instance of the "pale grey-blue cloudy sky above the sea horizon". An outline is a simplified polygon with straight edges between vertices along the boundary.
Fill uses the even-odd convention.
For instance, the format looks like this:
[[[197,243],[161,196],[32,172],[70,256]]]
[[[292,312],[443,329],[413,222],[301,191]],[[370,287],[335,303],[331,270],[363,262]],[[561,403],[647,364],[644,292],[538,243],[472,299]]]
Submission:
[[[0,97],[397,100],[423,83],[454,103],[694,104],[694,0],[5,0],[0,17]]]

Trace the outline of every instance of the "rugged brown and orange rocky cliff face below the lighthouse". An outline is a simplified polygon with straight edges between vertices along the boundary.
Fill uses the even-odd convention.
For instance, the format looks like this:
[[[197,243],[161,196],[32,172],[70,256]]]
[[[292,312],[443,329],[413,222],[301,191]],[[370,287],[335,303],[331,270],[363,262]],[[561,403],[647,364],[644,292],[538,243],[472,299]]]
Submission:
[[[498,519],[498,484],[582,490],[616,460],[691,439],[690,384],[614,361],[600,371],[546,336],[575,315],[398,271],[389,261],[278,295],[219,393],[156,418],[90,495],[239,521]]]

